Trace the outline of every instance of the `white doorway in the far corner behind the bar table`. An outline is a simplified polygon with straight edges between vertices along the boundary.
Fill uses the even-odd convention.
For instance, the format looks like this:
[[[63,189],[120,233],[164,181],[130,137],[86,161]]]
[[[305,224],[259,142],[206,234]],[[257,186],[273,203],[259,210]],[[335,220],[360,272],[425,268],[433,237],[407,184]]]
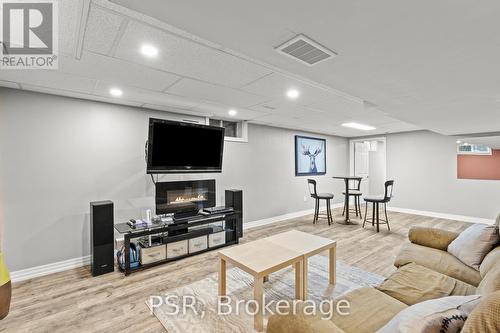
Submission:
[[[386,138],[374,137],[349,141],[349,171],[363,177],[364,195],[384,194],[387,179]]]

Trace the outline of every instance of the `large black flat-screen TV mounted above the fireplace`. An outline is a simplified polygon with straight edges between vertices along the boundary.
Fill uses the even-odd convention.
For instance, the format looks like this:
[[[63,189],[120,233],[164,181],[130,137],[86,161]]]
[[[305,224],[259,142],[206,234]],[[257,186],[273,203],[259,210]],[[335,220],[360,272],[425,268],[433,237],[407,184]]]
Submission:
[[[221,172],[224,128],[149,119],[148,173]]]

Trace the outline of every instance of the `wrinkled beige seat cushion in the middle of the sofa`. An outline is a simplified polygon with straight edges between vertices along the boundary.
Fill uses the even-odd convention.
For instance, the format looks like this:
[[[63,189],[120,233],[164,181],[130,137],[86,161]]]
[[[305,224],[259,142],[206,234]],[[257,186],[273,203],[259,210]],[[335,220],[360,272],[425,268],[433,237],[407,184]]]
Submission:
[[[400,267],[377,289],[407,305],[445,296],[476,293],[476,287],[470,284],[415,263]]]

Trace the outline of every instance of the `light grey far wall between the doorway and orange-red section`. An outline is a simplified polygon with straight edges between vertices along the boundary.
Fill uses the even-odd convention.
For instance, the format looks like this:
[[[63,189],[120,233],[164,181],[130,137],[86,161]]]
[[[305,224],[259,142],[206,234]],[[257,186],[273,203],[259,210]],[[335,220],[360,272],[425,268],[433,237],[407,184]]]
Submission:
[[[500,181],[457,179],[456,138],[429,131],[387,135],[391,206],[494,219]]]

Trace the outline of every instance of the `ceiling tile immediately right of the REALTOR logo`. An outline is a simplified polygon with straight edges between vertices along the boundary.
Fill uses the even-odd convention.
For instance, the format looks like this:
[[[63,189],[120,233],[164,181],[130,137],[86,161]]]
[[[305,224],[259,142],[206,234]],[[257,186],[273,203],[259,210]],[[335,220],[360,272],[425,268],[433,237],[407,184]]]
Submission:
[[[59,2],[59,52],[72,55],[76,50],[83,0]]]

